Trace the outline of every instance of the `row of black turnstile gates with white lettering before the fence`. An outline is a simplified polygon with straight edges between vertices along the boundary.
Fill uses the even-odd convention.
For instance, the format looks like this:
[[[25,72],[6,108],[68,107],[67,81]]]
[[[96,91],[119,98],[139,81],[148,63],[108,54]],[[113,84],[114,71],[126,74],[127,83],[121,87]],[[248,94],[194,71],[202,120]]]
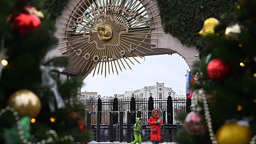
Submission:
[[[164,113],[165,111],[163,111]],[[136,114],[137,117],[141,117],[141,111],[128,111],[127,118],[131,118],[131,114]],[[100,124],[100,121],[96,125],[91,125],[91,114],[97,114],[100,116],[100,112],[88,112],[87,113],[87,130],[93,132],[93,137],[96,137],[97,142],[127,142],[130,143],[134,140],[133,124],[128,119],[128,123],[123,123],[123,111],[110,111],[109,112],[109,124]],[[114,115],[119,114],[120,123],[113,124]],[[99,118],[97,118],[99,120]],[[178,124],[163,124],[161,126],[161,141],[160,142],[175,142],[178,130],[182,125]],[[142,142],[150,141],[150,128],[151,125],[142,124]]]

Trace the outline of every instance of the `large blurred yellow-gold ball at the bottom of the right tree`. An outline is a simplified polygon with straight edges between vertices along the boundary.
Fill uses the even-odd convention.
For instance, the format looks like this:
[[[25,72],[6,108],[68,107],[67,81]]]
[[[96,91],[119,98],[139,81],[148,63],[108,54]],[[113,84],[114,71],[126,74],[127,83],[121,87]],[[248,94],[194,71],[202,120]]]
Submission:
[[[218,144],[249,144],[252,137],[248,121],[226,123],[216,132]]]

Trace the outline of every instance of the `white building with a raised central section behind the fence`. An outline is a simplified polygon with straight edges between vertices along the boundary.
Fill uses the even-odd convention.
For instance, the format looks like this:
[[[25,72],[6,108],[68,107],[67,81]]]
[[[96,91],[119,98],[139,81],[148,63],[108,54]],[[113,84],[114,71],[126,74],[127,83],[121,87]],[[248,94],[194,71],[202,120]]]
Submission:
[[[156,82],[155,86],[144,86],[144,88],[135,90],[135,91],[126,91],[124,95],[120,95],[118,98],[132,98],[132,94],[134,94],[134,98],[149,98],[150,93],[152,93],[153,98],[167,98],[170,96],[173,98],[175,92],[172,91],[172,88],[164,87],[164,83]]]

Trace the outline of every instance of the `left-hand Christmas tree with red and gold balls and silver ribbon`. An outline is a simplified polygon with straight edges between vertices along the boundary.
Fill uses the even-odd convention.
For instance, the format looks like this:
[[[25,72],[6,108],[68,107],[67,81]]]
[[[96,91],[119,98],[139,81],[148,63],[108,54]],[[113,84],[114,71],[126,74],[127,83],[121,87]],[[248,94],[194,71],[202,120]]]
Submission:
[[[0,0],[0,143],[90,141],[79,116],[81,77],[59,77],[66,58],[46,60],[58,43],[36,0]]]

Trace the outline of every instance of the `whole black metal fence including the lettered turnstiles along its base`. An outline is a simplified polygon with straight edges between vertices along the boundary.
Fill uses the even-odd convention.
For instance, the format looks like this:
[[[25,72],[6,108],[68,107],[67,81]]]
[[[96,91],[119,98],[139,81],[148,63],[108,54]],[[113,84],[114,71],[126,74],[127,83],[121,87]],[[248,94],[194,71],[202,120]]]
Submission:
[[[172,98],[114,98],[112,100],[81,101],[81,117],[87,129],[97,142],[132,142],[132,126],[137,117],[142,118],[142,141],[150,140],[148,119],[157,108],[163,121],[162,142],[175,142],[178,129],[184,125],[184,118],[190,112],[192,100],[186,97]],[[143,126],[144,125],[144,126]]]

